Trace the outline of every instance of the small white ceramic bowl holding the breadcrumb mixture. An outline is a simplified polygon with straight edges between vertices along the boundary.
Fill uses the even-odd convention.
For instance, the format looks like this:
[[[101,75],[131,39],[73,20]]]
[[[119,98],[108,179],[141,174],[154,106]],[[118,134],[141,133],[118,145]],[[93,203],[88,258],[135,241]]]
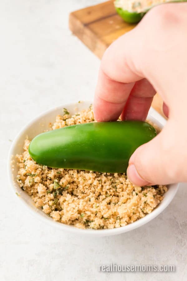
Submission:
[[[68,111],[70,111],[70,114],[75,114],[76,112],[86,109],[89,107],[91,102],[84,101],[80,103],[75,104],[66,104],[63,106],[55,107],[49,111],[44,112],[40,116],[36,117],[33,121],[31,121],[29,124],[27,124],[21,132],[17,135],[15,140],[12,142],[12,146],[10,148],[10,152],[8,155],[8,164],[7,164],[7,170],[8,170],[8,177],[10,180],[10,185],[12,187],[12,191],[16,195],[18,193],[20,196],[16,195],[17,204],[20,204],[22,202],[26,209],[30,211],[33,215],[35,215],[36,218],[43,220],[44,222],[50,224],[52,227],[57,227],[58,229],[61,229],[62,231],[70,231],[74,232],[76,234],[85,234],[89,236],[109,236],[109,235],[115,235],[120,234],[123,232],[130,231],[132,229],[136,229],[137,227],[142,226],[143,224],[146,224],[151,219],[154,219],[158,214],[160,214],[171,202],[171,200],[174,198],[177,189],[178,184],[172,184],[168,186],[168,191],[164,195],[164,199],[161,201],[161,203],[154,209],[151,214],[147,214],[144,218],[141,218],[137,220],[136,222],[132,224],[128,224],[126,226],[115,228],[115,229],[78,229],[74,226],[62,224],[59,222],[55,222],[52,218],[47,216],[42,210],[37,209],[34,206],[34,203],[31,199],[31,197],[24,192],[16,181],[16,176],[18,172],[18,168],[16,165],[15,155],[21,154],[23,151],[23,143],[26,138],[26,136],[29,137],[29,139],[34,138],[36,135],[40,134],[42,131],[49,129],[49,123],[53,123],[55,121],[55,116],[63,112],[63,108],[67,108]],[[160,126],[161,128],[165,124],[165,119],[158,114],[154,109],[150,109],[148,119],[153,121],[155,124]],[[12,170],[11,167],[11,160],[15,160],[14,170]]]

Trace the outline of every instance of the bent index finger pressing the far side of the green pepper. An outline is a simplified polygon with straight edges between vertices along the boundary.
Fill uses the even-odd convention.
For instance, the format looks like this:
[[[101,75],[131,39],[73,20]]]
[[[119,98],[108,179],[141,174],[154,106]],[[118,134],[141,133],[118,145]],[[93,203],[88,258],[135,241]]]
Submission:
[[[113,121],[122,113],[134,82],[142,77],[129,66],[132,35],[117,39],[105,52],[93,103],[97,121]],[[122,48],[121,46],[125,46]]]

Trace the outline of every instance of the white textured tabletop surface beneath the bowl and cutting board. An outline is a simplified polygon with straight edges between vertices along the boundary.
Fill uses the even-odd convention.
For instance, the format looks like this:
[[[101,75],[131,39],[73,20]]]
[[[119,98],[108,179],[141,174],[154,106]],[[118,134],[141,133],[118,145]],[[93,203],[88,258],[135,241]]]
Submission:
[[[11,193],[8,149],[48,108],[93,99],[99,60],[68,30],[91,0],[2,1],[0,9],[0,280],[187,280],[187,186],[150,223],[127,234],[82,238],[28,214]],[[175,273],[99,273],[99,264],[174,264]]]

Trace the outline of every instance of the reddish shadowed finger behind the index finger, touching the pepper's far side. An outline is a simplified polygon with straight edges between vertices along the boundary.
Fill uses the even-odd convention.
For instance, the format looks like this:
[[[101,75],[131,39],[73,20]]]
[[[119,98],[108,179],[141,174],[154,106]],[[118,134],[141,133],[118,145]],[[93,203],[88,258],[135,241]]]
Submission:
[[[137,81],[123,109],[122,120],[145,121],[155,94],[156,91],[149,81]]]

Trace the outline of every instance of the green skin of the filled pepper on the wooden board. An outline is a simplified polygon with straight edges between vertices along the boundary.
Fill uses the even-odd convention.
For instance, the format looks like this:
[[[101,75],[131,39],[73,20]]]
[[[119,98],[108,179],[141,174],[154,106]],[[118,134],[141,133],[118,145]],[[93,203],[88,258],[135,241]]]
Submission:
[[[128,12],[123,10],[122,8],[116,8],[117,13],[122,17],[125,22],[128,23],[137,23],[141,21],[142,17],[146,14],[146,12],[137,13],[137,12]]]

